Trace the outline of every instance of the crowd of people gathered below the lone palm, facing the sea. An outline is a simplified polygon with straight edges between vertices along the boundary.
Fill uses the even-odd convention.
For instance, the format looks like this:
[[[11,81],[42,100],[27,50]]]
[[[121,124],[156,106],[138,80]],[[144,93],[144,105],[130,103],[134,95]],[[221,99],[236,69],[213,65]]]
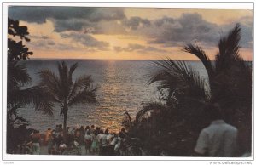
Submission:
[[[110,133],[108,128],[102,130],[94,125],[80,128],[67,127],[62,124],[54,129],[48,128],[45,134],[34,130],[30,138],[22,145],[23,154],[40,155],[41,147],[47,146],[49,155],[125,155],[125,128],[119,134]]]

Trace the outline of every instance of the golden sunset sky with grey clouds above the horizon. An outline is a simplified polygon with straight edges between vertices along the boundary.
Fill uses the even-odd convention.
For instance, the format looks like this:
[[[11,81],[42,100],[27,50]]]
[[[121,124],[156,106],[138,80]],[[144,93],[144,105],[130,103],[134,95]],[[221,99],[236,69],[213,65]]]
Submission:
[[[212,58],[218,39],[241,24],[241,55],[252,60],[252,9],[9,7],[27,26],[32,58],[197,60],[181,51],[201,45]],[[213,58],[212,58],[213,60]]]

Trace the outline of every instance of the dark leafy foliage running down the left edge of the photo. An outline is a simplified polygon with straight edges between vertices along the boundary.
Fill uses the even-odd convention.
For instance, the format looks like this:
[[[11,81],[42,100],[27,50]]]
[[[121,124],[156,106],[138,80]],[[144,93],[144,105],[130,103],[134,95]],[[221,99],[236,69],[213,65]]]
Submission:
[[[26,126],[29,124],[18,111],[21,105],[31,103],[31,97],[27,97],[31,92],[30,88],[23,88],[30,83],[31,77],[27,74],[26,67],[20,65],[19,61],[28,59],[32,52],[29,52],[22,43],[22,39],[30,41],[26,37],[29,33],[26,26],[19,26],[18,20],[8,19],[8,34],[7,153],[15,153],[18,145],[27,137]],[[20,37],[21,41],[16,42],[14,37]]]

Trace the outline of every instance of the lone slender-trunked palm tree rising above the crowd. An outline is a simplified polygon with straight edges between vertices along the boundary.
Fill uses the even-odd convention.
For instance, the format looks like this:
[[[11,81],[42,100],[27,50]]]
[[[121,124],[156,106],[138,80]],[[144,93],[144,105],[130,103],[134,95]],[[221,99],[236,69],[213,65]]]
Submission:
[[[61,107],[60,114],[64,116],[63,127],[64,134],[67,128],[68,107],[78,104],[97,103],[96,90],[93,88],[93,81],[90,76],[78,77],[73,82],[73,71],[78,67],[78,63],[67,67],[66,63],[58,64],[59,76],[49,69],[39,71],[40,82],[37,88],[40,88],[44,101],[53,105],[57,103]],[[53,108],[51,107],[51,111]]]

